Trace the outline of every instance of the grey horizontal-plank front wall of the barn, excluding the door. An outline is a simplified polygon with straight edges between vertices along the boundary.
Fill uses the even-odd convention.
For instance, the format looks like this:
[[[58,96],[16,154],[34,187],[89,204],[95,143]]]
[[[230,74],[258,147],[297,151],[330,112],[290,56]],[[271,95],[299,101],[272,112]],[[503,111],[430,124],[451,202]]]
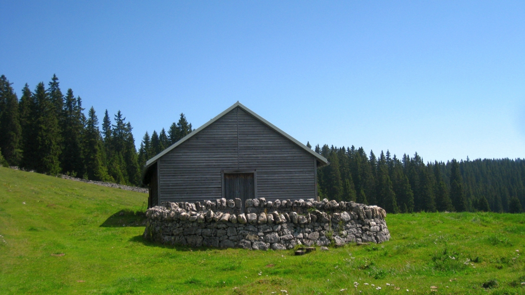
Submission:
[[[159,160],[161,202],[221,198],[222,170],[257,170],[257,197],[316,197],[314,157],[240,108]]]

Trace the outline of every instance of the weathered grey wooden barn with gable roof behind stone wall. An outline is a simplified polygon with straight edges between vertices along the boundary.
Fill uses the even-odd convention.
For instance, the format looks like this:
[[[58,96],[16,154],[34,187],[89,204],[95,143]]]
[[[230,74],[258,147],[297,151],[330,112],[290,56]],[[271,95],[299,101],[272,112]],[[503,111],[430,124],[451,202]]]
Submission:
[[[317,199],[323,156],[237,102],[146,163],[149,207],[217,198]]]

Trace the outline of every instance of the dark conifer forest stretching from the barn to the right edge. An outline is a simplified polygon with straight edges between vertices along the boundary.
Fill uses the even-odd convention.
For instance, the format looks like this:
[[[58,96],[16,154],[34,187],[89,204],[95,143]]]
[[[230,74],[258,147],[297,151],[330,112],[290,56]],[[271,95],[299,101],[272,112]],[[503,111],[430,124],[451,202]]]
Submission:
[[[310,148],[310,143],[307,144]],[[317,145],[330,165],[318,168],[321,198],[378,205],[390,213],[522,212],[525,161],[451,160],[424,163],[417,153],[377,157],[363,148]]]

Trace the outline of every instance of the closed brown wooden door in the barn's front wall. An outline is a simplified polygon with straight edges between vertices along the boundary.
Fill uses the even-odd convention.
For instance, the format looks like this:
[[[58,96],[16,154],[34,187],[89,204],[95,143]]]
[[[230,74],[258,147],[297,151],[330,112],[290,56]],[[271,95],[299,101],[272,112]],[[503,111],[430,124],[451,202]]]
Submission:
[[[224,173],[224,197],[239,198],[243,201],[255,198],[255,182],[253,173]]]

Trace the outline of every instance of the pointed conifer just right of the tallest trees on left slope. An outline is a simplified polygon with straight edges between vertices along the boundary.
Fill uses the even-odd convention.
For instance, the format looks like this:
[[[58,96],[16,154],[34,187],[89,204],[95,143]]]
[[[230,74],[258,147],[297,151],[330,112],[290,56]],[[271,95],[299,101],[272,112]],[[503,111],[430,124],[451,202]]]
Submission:
[[[85,136],[86,174],[89,180],[114,182],[113,177],[108,174],[108,168],[104,165],[103,143],[98,123],[95,109],[91,107],[88,113]]]

